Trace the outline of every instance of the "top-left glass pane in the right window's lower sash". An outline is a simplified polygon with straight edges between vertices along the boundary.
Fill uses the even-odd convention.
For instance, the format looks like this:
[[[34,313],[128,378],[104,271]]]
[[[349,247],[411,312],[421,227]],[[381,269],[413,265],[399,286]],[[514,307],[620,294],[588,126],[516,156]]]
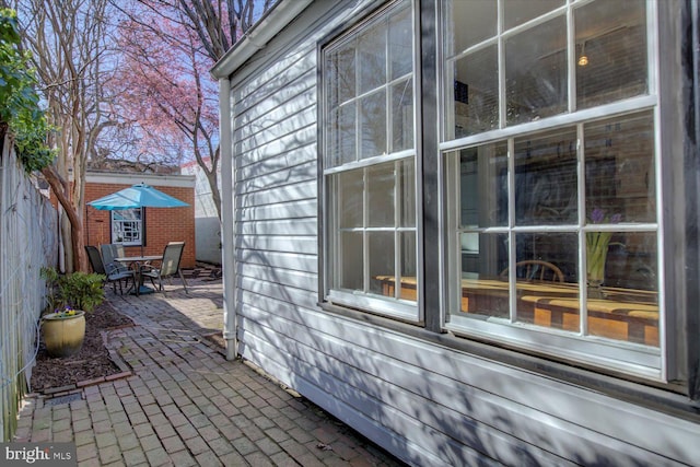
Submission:
[[[460,225],[508,225],[508,144],[464,149],[459,154]]]

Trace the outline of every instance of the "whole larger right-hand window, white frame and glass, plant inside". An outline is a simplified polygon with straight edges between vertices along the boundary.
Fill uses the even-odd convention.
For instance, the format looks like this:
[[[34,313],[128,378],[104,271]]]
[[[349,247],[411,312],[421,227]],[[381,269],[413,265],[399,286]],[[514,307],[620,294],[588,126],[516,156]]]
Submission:
[[[444,5],[447,327],[663,380],[646,2]]]

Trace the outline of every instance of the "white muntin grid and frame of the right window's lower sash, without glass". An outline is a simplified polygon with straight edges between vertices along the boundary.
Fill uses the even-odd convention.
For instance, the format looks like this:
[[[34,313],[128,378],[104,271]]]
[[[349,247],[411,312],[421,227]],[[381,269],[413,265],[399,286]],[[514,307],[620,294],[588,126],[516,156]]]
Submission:
[[[641,100],[641,102],[646,101],[646,100]],[[616,104],[608,104],[606,105],[607,107],[610,106],[616,106]],[[619,106],[618,106],[619,107]],[[662,219],[661,219],[661,213],[660,211],[661,209],[661,155],[660,155],[660,141],[658,141],[658,107],[657,106],[653,106],[653,107],[646,107],[646,108],[635,108],[632,112],[629,112],[626,109],[626,112],[619,112],[617,114],[610,115],[610,114],[603,114],[598,117],[599,120],[606,120],[612,117],[618,117],[618,118],[622,118],[627,115],[641,115],[644,113],[649,113],[652,112],[653,113],[653,163],[655,164],[655,184],[656,184],[656,188],[655,188],[655,196],[656,196],[656,222],[639,222],[639,223],[623,223],[623,224],[592,224],[592,223],[587,223],[586,218],[585,218],[585,203],[586,203],[586,197],[585,197],[585,165],[584,165],[584,161],[585,161],[585,135],[584,135],[584,125],[588,124],[588,122],[594,122],[595,119],[592,118],[581,118],[579,119],[579,121],[575,124],[576,126],[576,135],[578,135],[578,148],[576,148],[576,171],[578,171],[578,210],[579,210],[579,219],[578,219],[578,223],[576,224],[559,224],[559,225],[524,225],[524,226],[520,226],[515,224],[515,190],[514,190],[514,184],[515,184],[515,179],[514,179],[514,167],[515,167],[515,160],[514,160],[514,143],[515,143],[515,139],[518,137],[523,137],[523,136],[527,136],[529,132],[512,132],[509,131],[506,141],[508,141],[508,148],[509,148],[509,157],[508,157],[508,165],[509,165],[509,175],[508,175],[508,185],[509,185],[509,194],[508,194],[508,199],[509,199],[509,212],[508,212],[508,219],[509,219],[509,224],[506,227],[503,226],[490,226],[490,227],[479,227],[479,229],[463,229],[459,225],[459,218],[458,214],[456,212],[456,209],[451,209],[450,212],[452,212],[452,215],[454,217],[454,221],[452,221],[452,224],[456,226],[456,235],[454,237],[457,238],[457,244],[459,241],[459,235],[464,232],[477,232],[477,233],[506,233],[509,235],[509,244],[512,246],[515,244],[515,235],[517,233],[545,233],[545,232],[567,232],[567,233],[578,233],[579,235],[579,301],[580,301],[580,315],[579,315],[579,320],[580,320],[580,326],[579,326],[579,332],[572,332],[572,331],[563,331],[563,330],[559,330],[559,329],[548,329],[548,328],[542,328],[540,326],[535,326],[535,325],[528,325],[526,323],[522,323],[522,322],[516,322],[517,318],[517,295],[516,295],[516,283],[515,283],[515,268],[514,268],[514,264],[516,261],[516,252],[513,247],[509,247],[509,267],[510,267],[510,271],[509,271],[509,326],[514,326],[513,329],[516,329],[514,332],[515,334],[523,334],[523,337],[521,338],[522,340],[527,340],[526,339],[526,334],[527,332],[536,332],[539,334],[540,336],[559,336],[556,339],[552,339],[555,341],[559,341],[561,339],[567,339],[570,338],[573,341],[576,341],[579,343],[576,343],[578,346],[581,346],[582,341],[585,342],[593,342],[594,346],[596,346],[596,348],[598,348],[597,352],[599,354],[596,353],[595,358],[588,358],[588,357],[583,357],[579,353],[576,353],[574,351],[574,353],[578,355],[579,360],[584,360],[584,361],[590,361],[594,364],[604,366],[604,367],[609,367],[609,369],[614,369],[614,370],[621,370],[625,371],[627,373],[633,373],[633,374],[638,374],[638,375],[642,375],[643,377],[651,377],[654,380],[665,380],[666,377],[666,366],[667,364],[665,363],[666,359],[665,359],[665,352],[666,352],[666,346],[665,346],[665,339],[664,339],[664,326],[665,326],[665,294],[664,294],[664,277],[663,277],[663,248],[662,248],[662,242],[663,242],[663,236],[662,236]],[[590,112],[586,112],[586,114],[588,114]],[[559,118],[561,119],[561,118]],[[551,122],[556,122],[557,118],[551,118],[548,120],[552,120]],[[520,128],[522,126],[517,126],[517,128]],[[549,125],[546,126],[545,128],[540,128],[538,129],[538,131],[535,131],[534,133],[539,133],[542,130],[552,130],[552,129],[557,129],[559,126],[557,125]],[[561,127],[569,127],[569,125],[562,125]],[[499,131],[500,133],[503,133],[503,131]],[[491,133],[494,133],[493,131]],[[468,140],[468,139],[478,139],[478,138],[465,138],[463,140]],[[454,159],[456,162],[454,163],[455,166],[458,166],[458,157],[451,155],[452,153],[457,153],[458,150],[460,149],[467,149],[469,147],[478,147],[481,144],[486,144],[486,143],[497,143],[497,142],[502,142],[502,139],[492,139],[492,140],[487,140],[487,141],[478,141],[478,143],[472,143],[470,145],[460,145],[457,148],[446,148],[442,151],[443,153],[443,160],[445,160],[445,157],[447,160],[450,159]],[[447,144],[442,144],[443,147],[447,147]],[[450,144],[450,147],[452,147],[452,144]],[[454,168],[454,167],[453,167]],[[456,171],[458,173],[458,171]],[[458,178],[455,174],[455,177]],[[458,186],[459,182],[455,182],[456,186]],[[448,184],[450,185],[450,184]],[[456,206],[458,206],[458,202],[455,203]],[[455,208],[456,208],[455,206]],[[658,279],[657,279],[657,293],[658,293],[658,307],[660,307],[660,312],[658,312],[658,337],[660,337],[660,342],[658,342],[658,348],[653,348],[653,347],[648,347],[648,346],[642,346],[642,345],[638,345],[634,342],[627,342],[627,341],[617,341],[617,340],[611,340],[611,339],[605,339],[605,338],[599,338],[597,336],[593,336],[588,334],[588,319],[587,319],[587,296],[586,296],[586,277],[585,277],[585,270],[586,270],[586,254],[585,254],[585,248],[583,247],[583,245],[585,245],[585,235],[587,232],[591,231],[609,231],[609,232],[639,232],[639,233],[653,233],[656,235],[656,254],[657,254],[657,273],[658,273]],[[454,241],[452,241],[452,243],[454,243]],[[456,261],[459,262],[460,260]],[[455,262],[455,261],[453,261]],[[455,271],[455,269],[457,271],[460,272],[462,267],[458,265],[457,266],[458,269],[456,268],[450,268],[451,271]],[[582,272],[583,271],[583,272]],[[452,283],[454,283],[454,281],[451,281]],[[451,315],[451,319],[446,320],[446,327],[456,331],[456,332],[466,332],[467,335],[482,335],[486,336],[488,335],[490,339],[495,339],[495,340],[504,340],[502,335],[499,331],[499,328],[502,327],[502,325],[499,325],[499,322],[503,322],[503,319],[501,318],[489,318],[489,322],[493,322],[493,323],[489,323],[489,322],[479,322],[478,324],[475,323],[477,320],[468,318],[468,317],[464,317],[460,316],[459,314],[454,314],[453,312],[457,308],[454,307],[455,304],[459,303],[459,295],[462,293],[460,288],[455,288],[453,287],[453,290],[450,290],[451,288],[448,288],[448,293],[450,293],[450,299],[447,300],[447,303],[452,304],[452,308],[450,310],[448,314]],[[475,329],[475,325],[479,328],[479,329]],[[483,329],[482,329],[483,328]],[[488,330],[489,328],[493,328],[492,330]],[[486,334],[485,334],[486,332]],[[505,339],[505,341],[509,341],[508,339]],[[527,346],[525,346],[527,347]],[[585,346],[584,346],[585,347]],[[568,349],[563,349],[563,351],[557,351],[557,346],[552,346],[552,353],[555,354],[559,354],[561,357],[567,357],[568,353],[571,353],[571,350]],[[608,349],[610,349],[608,351]],[[562,350],[562,349],[559,349]],[[620,353],[622,352],[622,353]],[[626,354],[629,353],[629,354]],[[646,355],[656,355],[654,359],[649,360],[649,358]],[[610,355],[610,358],[605,358],[605,355]],[[612,355],[625,355],[625,357],[617,357],[618,359],[620,359],[621,361],[616,361],[616,359]],[[568,358],[568,357],[567,357]],[[630,364],[626,363],[626,361],[632,362]],[[640,369],[640,365],[644,366],[641,362],[657,362],[654,363],[655,366],[652,367],[643,367]]]

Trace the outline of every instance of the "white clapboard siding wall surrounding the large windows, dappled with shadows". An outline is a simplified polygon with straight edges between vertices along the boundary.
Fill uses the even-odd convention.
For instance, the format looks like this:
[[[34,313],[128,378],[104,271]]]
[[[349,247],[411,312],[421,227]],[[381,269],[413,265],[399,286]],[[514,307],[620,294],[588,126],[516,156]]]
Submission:
[[[319,307],[317,44],[373,4],[314,2],[230,77],[238,352],[410,465],[697,464],[685,395]]]

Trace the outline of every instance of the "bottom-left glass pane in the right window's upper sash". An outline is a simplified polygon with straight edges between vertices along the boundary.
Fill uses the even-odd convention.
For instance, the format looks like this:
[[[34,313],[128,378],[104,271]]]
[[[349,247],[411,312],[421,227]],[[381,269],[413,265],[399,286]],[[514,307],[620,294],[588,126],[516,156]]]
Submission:
[[[455,138],[499,127],[498,48],[486,47],[455,62]]]

